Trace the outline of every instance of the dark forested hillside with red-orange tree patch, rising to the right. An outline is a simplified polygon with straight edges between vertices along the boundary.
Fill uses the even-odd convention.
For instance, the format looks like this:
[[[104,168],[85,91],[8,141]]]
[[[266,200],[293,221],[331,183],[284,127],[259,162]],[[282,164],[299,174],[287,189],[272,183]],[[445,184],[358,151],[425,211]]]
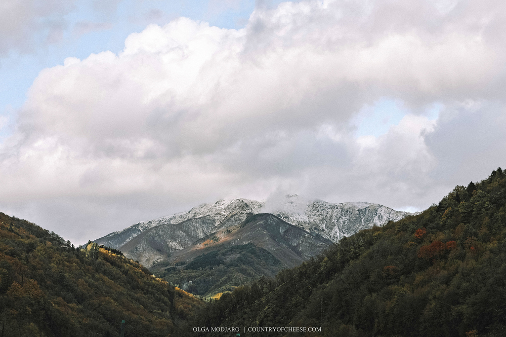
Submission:
[[[193,324],[321,326],[314,335],[323,336],[504,336],[505,205],[499,168],[417,216],[362,230],[275,279],[224,294]]]

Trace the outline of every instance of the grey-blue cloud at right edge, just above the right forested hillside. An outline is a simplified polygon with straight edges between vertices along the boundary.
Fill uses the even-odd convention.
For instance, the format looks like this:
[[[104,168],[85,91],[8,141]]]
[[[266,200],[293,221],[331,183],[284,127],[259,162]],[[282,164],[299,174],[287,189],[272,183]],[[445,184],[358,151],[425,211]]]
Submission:
[[[504,101],[469,100],[444,109],[426,137],[438,161],[431,176],[450,184],[476,181],[474,172],[485,178],[491,169],[506,166],[505,135]]]

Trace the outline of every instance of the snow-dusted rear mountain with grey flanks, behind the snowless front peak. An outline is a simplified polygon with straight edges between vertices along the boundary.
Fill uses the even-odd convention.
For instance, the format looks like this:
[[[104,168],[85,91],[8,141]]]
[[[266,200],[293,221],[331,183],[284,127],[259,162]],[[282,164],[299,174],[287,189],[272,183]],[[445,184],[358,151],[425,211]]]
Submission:
[[[244,221],[247,215],[262,213],[264,210],[265,202],[220,200],[215,204],[194,207],[186,213],[139,222],[94,242],[119,249],[126,256],[150,267],[172,256],[174,252],[191,246],[198,239],[233,227]],[[377,204],[331,204],[321,200],[306,201],[296,195],[286,196],[269,213],[334,243],[360,229],[383,226],[388,221],[410,215]]]

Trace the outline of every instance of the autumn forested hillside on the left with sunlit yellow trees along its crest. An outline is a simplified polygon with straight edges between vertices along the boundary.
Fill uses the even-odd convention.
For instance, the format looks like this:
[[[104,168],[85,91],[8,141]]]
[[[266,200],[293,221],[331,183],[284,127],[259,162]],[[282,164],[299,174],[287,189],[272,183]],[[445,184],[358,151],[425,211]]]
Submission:
[[[200,301],[119,251],[0,213],[0,337],[181,335]]]

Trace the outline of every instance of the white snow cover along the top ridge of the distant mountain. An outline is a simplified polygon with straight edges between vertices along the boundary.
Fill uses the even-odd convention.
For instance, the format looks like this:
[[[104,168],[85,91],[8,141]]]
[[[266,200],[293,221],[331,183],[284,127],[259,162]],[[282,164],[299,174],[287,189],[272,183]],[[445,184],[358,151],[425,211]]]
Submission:
[[[119,248],[140,233],[158,225],[178,224],[206,217],[212,220],[215,226],[220,226],[232,216],[239,216],[239,219],[243,220],[251,213],[272,213],[310,233],[338,242],[344,236],[350,236],[360,229],[370,228],[373,225],[383,226],[388,221],[397,221],[411,215],[378,204],[364,202],[332,204],[318,199],[307,200],[297,195],[287,195],[275,204],[272,202],[268,206],[266,204],[268,204],[266,201],[221,199],[214,204],[193,207],[188,212],[139,222],[121,231],[110,233],[96,242]]]

